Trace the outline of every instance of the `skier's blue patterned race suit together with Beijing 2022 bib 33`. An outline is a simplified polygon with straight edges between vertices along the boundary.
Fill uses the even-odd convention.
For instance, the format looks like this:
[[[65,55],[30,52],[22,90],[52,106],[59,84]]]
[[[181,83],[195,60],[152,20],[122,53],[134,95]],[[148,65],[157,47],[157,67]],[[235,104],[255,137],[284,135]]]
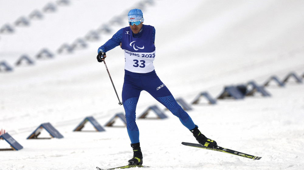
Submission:
[[[155,28],[143,25],[138,34],[133,34],[130,27],[120,29],[98,48],[107,52],[121,43],[125,54],[125,76],[122,90],[122,102],[126,113],[127,132],[131,143],[139,142],[139,129],[136,125],[136,105],[142,90],[147,91],[158,102],[179,118],[190,129],[195,128],[191,117],[176,102],[166,85],[157,76],[153,61],[155,55]]]

